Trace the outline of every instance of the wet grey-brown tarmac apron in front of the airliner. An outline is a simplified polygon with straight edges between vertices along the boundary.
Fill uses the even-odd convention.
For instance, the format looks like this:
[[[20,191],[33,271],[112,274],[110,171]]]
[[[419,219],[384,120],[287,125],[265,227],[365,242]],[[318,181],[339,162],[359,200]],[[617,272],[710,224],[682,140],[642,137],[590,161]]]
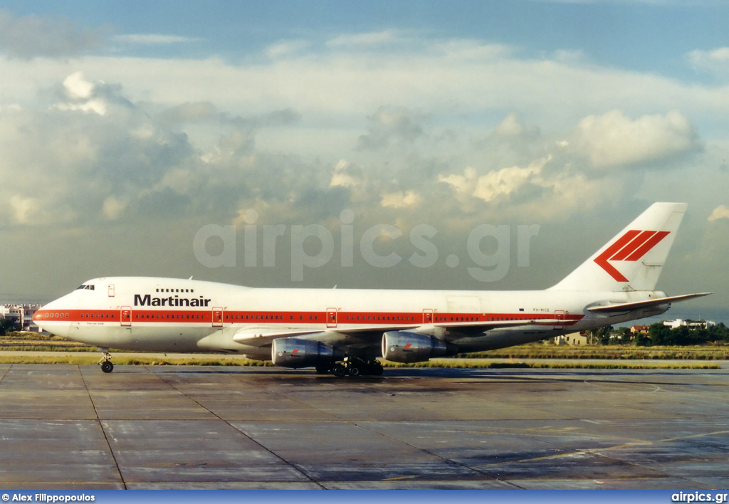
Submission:
[[[2,489],[727,489],[729,370],[0,364]]]

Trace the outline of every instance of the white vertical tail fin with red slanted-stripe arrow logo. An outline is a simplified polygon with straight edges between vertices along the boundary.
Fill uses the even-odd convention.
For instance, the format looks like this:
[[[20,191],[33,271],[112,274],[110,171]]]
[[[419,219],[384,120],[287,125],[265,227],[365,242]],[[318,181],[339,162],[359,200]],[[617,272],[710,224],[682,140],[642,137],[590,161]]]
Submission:
[[[653,203],[552,290],[655,290],[686,203]]]

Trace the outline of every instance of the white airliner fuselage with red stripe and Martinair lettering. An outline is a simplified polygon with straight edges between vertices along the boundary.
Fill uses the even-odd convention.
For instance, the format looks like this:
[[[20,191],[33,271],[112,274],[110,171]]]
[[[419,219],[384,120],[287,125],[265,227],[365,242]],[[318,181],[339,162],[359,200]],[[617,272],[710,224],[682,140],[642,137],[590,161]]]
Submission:
[[[154,277],[93,279],[36,312],[50,333],[101,348],[227,352],[270,358],[270,333],[316,333],[343,352],[377,357],[386,330],[413,330],[475,352],[659,314],[667,305],[594,314],[662,292],[258,289]],[[497,322],[518,327],[463,328]],[[539,323],[526,325],[529,321]],[[367,336],[367,337],[365,337]],[[311,336],[314,338],[314,336]]]

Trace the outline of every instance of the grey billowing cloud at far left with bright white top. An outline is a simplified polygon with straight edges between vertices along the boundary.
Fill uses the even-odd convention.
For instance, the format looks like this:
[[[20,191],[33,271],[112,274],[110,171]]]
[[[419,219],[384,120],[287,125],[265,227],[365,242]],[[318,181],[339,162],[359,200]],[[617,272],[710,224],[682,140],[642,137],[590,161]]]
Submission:
[[[141,211],[172,168],[199,162],[186,136],[155,123],[117,86],[74,73],[58,98],[46,109],[0,112],[0,174],[14,181],[0,189],[11,201],[0,222],[116,220]]]

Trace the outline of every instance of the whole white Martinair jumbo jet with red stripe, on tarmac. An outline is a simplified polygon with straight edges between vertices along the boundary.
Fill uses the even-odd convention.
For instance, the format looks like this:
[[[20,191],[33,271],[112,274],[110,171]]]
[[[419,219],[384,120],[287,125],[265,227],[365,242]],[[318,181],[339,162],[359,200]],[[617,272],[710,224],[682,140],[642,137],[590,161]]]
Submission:
[[[653,203],[546,290],[355,290],[241,287],[192,279],[109,277],[47,303],[36,325],[104,353],[213,352],[381,375],[380,360],[416,363],[482,352],[662,314],[658,276],[686,203]]]

